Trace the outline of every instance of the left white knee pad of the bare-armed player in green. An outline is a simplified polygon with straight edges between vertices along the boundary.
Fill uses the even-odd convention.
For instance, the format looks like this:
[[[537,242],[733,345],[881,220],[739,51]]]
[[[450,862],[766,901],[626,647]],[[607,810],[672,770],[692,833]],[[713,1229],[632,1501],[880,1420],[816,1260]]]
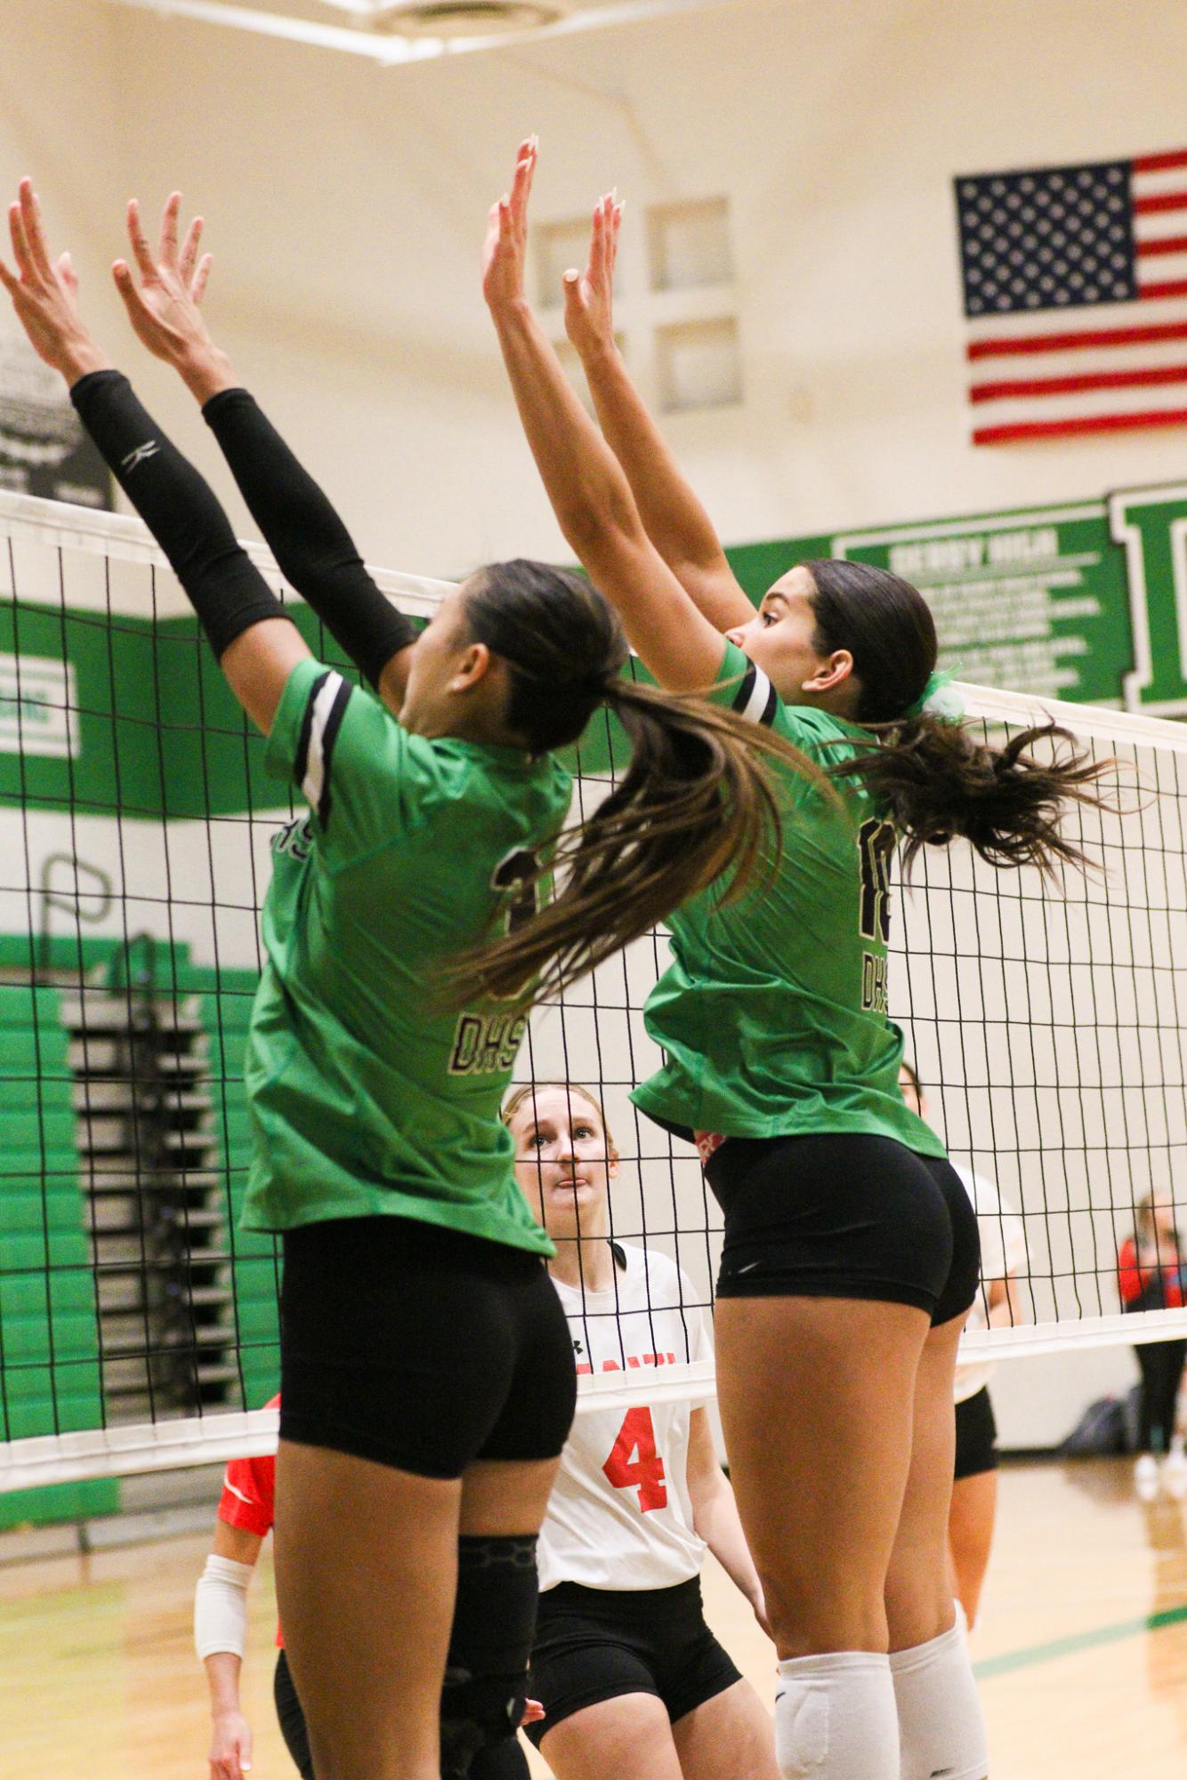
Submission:
[[[836,1650],[779,1663],[774,1753],[783,1780],[899,1780],[888,1659]]]

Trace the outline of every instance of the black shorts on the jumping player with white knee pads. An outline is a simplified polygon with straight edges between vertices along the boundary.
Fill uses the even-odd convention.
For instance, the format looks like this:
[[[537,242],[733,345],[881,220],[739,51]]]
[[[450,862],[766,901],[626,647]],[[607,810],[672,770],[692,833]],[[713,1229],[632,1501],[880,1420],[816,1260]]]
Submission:
[[[726,1223],[719,1298],[874,1298],[940,1324],[977,1294],[977,1216],[940,1157],[845,1132],[728,1137],[705,1175]]]

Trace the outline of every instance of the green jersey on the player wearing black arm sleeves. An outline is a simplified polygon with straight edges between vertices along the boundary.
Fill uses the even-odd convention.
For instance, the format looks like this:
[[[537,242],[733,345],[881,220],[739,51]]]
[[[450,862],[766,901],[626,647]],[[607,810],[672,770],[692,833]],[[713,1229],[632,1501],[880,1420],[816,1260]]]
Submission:
[[[244,1223],[388,1212],[550,1255],[498,1118],[527,1022],[497,1000],[441,1011],[438,995],[448,961],[523,908],[568,773],[413,735],[311,659],[265,760],[310,813],[272,842]]]

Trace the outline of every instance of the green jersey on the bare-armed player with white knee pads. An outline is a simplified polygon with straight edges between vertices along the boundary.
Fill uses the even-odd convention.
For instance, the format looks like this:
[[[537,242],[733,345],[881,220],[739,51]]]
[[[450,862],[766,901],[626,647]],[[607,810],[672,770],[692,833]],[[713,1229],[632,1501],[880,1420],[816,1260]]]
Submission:
[[[819,765],[868,740],[813,705],[785,705],[733,643],[710,698]],[[644,1009],[666,1064],[632,1098],[726,1137],[868,1132],[943,1155],[902,1102],[902,1032],[886,1016],[893,824],[856,780],[835,781],[831,799],[776,771],[787,799],[774,876],[724,908],[710,888],[671,915],[673,963]]]

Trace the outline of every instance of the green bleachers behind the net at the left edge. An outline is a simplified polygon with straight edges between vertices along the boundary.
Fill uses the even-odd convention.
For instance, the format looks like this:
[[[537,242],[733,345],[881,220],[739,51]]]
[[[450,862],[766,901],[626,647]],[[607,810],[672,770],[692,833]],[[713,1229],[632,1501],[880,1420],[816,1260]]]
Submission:
[[[126,961],[112,940],[55,938],[53,968],[94,972]],[[141,956],[132,958],[135,975]],[[0,968],[28,970],[25,936],[0,934]],[[208,1043],[212,1166],[224,1180],[242,1401],[258,1408],[279,1385],[279,1271],[274,1241],[240,1232],[247,1177],[244,1045],[253,970],[190,963],[187,947],[155,947],[157,990],[196,997]],[[121,974],[123,972],[123,974]],[[0,983],[0,1438],[103,1424],[87,1203],[75,1148],[73,1073],[53,986]],[[233,1394],[233,1401],[237,1392]],[[0,1529],[112,1513],[116,1479],[0,1493]]]

